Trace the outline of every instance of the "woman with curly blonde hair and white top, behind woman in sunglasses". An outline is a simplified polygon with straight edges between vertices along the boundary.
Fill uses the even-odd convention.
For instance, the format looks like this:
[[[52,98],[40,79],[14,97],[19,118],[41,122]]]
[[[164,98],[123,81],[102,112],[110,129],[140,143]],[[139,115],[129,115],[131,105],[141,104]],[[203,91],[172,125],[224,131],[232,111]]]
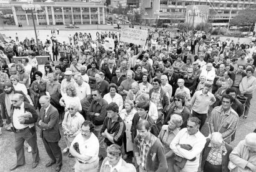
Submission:
[[[77,110],[82,111],[81,102],[76,92],[76,86],[70,83],[67,85],[66,91],[67,91],[67,94],[64,94],[64,96],[61,97],[61,99],[59,100],[59,104],[65,107],[65,111],[67,111],[67,107],[69,107],[69,104],[71,104],[71,102],[76,102],[78,106]]]

